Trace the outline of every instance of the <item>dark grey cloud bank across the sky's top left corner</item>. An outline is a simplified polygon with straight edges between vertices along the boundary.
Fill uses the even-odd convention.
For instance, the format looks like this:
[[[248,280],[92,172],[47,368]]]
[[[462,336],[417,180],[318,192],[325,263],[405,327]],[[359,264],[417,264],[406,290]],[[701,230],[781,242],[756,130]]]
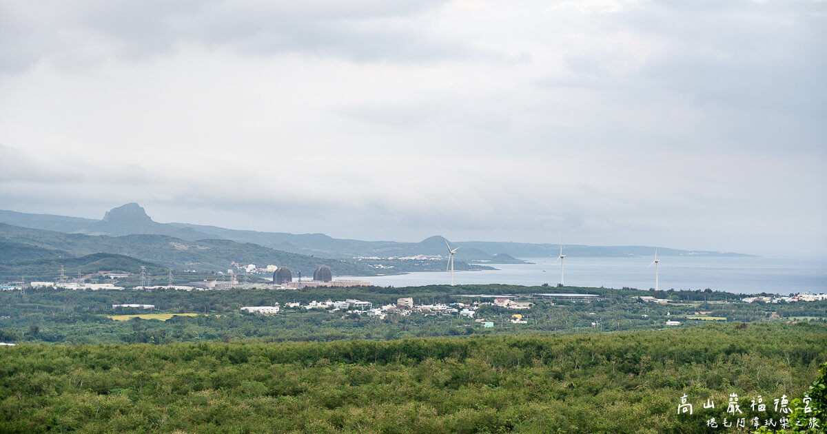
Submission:
[[[0,65],[19,71],[49,59],[71,67],[103,62],[108,55],[168,55],[192,43],[248,55],[294,52],[359,61],[496,59],[494,52],[423,35],[404,20],[442,3],[8,2],[0,9],[6,29],[0,31]]]

